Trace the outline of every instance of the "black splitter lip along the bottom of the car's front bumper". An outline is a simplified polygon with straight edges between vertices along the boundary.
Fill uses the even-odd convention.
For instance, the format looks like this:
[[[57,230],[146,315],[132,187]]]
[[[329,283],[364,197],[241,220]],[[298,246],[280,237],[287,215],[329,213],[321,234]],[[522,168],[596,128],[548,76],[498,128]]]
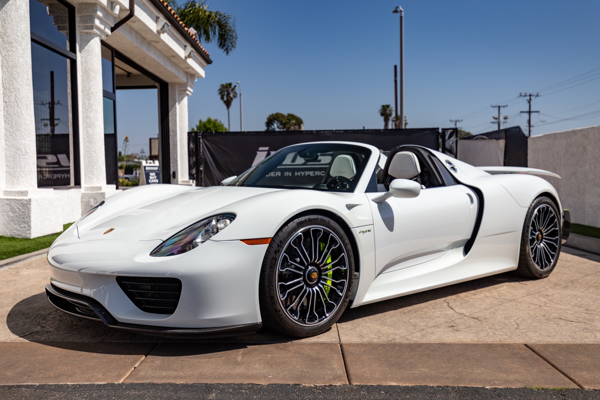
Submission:
[[[100,321],[109,327],[131,330],[133,332],[146,333],[149,335],[180,336],[184,338],[215,338],[239,335],[240,333],[254,333],[262,327],[262,323],[260,322],[214,328],[171,328],[122,323],[110,315],[110,312],[92,297],[72,293],[56,287],[53,284],[46,285],[46,296],[53,306],[61,311],[67,312],[67,314]]]

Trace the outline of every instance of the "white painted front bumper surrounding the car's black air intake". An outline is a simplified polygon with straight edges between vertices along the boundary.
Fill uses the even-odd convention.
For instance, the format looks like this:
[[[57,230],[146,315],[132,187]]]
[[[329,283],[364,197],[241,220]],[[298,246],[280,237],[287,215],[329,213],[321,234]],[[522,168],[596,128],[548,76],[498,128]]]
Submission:
[[[258,288],[267,245],[209,240],[180,255],[151,257],[158,243],[77,238],[55,243],[48,253],[50,283],[94,299],[118,323],[172,330],[260,322]],[[119,287],[119,277],[179,279],[181,297],[175,311],[169,315],[140,309]]]

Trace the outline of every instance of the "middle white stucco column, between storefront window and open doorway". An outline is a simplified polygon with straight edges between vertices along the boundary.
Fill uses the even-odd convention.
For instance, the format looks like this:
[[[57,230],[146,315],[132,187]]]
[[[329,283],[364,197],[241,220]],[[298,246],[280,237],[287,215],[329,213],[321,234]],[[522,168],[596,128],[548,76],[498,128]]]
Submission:
[[[106,184],[101,40],[110,34],[116,14],[96,3],[79,3],[77,17],[77,90],[81,209],[87,212],[116,193]]]

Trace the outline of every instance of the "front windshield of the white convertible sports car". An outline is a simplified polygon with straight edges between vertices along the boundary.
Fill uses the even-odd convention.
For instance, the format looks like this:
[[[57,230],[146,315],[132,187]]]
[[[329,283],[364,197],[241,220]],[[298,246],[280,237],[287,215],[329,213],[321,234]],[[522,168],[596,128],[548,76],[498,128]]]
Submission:
[[[341,143],[289,146],[227,186],[353,192],[370,154],[367,148]]]

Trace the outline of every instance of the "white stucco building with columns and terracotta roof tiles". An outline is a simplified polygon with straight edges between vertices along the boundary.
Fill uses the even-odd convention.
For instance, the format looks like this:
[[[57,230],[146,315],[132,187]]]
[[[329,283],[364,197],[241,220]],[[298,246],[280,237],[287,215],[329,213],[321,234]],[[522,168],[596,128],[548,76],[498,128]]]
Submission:
[[[161,181],[190,184],[206,50],[161,0],[0,0],[0,235],[62,230],[118,190],[115,93],[155,88]]]

